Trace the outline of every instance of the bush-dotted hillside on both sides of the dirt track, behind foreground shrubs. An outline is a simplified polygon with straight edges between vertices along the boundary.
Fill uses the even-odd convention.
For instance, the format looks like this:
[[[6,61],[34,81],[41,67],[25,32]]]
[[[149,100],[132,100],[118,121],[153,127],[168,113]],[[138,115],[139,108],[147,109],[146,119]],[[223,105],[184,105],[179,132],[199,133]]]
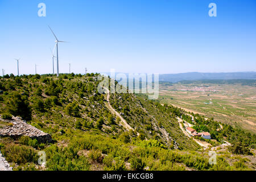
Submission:
[[[5,93],[9,93],[2,98],[8,101],[17,92],[22,93],[31,107],[32,119],[29,122],[51,135],[64,133],[68,129],[101,129],[109,135],[119,135],[125,130],[118,125],[119,119],[106,107],[104,94],[98,93],[97,75],[63,75],[60,79],[24,76],[5,79],[1,83],[7,91]],[[5,103],[2,102],[2,113],[10,112]],[[141,134],[139,137],[142,139],[156,139],[170,148],[175,144],[180,149],[195,150],[199,147],[182,134],[175,115],[171,116],[170,111],[143,96],[111,94],[110,104]]]

